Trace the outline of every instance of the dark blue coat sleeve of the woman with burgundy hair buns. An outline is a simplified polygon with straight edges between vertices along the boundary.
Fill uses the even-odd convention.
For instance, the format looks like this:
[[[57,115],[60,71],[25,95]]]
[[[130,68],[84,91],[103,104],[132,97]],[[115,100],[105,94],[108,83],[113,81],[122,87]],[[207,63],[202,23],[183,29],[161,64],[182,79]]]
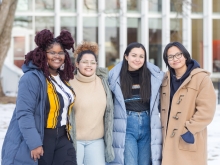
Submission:
[[[16,103],[16,118],[21,134],[29,147],[33,150],[42,146],[42,140],[35,126],[35,112],[38,97],[42,86],[40,86],[39,78],[33,73],[25,73],[21,78],[18,86],[18,96]]]

